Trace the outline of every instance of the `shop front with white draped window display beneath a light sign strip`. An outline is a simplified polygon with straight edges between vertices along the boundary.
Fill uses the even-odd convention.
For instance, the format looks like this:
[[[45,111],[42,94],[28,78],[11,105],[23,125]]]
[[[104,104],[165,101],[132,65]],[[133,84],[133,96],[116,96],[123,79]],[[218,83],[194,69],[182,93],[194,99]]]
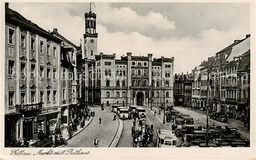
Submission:
[[[37,127],[40,139],[58,134],[59,113],[60,108],[58,106],[55,106],[54,108],[46,108],[41,110],[40,114],[38,115]]]

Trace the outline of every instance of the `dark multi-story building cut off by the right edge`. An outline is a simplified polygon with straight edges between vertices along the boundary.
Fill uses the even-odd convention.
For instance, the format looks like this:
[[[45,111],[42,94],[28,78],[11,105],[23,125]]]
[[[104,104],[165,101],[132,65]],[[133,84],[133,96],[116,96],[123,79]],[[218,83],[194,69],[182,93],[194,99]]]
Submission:
[[[238,74],[238,118],[250,128],[250,50],[239,58]],[[230,111],[231,112],[231,111]]]

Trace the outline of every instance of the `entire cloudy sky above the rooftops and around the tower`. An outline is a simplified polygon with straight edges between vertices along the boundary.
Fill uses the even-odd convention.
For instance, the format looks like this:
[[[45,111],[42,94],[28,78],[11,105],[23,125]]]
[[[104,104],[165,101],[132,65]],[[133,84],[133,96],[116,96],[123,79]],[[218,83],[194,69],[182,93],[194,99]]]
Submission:
[[[90,3],[10,3],[42,29],[58,29],[83,43],[84,13]],[[95,3],[98,54],[175,57],[174,72],[190,72],[250,34],[249,3]],[[83,46],[83,45],[82,45]]]

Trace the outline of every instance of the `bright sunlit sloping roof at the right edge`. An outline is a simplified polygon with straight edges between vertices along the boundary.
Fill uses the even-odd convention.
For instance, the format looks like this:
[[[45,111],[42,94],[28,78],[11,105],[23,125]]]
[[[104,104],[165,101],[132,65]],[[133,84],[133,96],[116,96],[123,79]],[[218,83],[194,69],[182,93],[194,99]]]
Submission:
[[[227,61],[232,61],[233,57],[238,57],[244,54],[250,49],[250,37],[242,41],[241,43],[233,46],[230,55],[227,58]]]

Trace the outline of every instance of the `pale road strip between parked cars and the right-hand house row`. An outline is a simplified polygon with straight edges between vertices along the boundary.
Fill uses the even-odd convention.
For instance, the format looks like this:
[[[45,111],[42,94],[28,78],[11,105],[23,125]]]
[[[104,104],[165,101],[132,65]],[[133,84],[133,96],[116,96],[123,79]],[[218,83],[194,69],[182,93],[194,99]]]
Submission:
[[[183,107],[176,107],[174,106],[173,108],[174,110],[177,110],[183,114],[187,114],[189,115],[190,117],[192,117],[194,119],[194,122],[197,124],[198,123],[198,119],[199,119],[199,122],[200,122],[200,125],[204,125],[206,124],[206,115],[205,114],[202,114],[202,113],[198,113],[196,111],[192,111],[190,109],[186,109],[186,108],[183,108]],[[221,122],[218,122],[216,120],[212,120],[209,118],[209,125],[211,125],[212,123],[215,123],[215,125],[220,125],[222,128],[225,128],[225,125],[232,125],[232,124],[229,124],[229,123],[221,123]],[[239,127],[239,126],[235,126],[235,125],[232,125],[234,127],[237,127],[238,128],[238,132],[241,134],[241,138],[242,139],[245,139],[247,141],[250,140],[250,131],[245,129],[245,128],[242,128],[242,127]]]

